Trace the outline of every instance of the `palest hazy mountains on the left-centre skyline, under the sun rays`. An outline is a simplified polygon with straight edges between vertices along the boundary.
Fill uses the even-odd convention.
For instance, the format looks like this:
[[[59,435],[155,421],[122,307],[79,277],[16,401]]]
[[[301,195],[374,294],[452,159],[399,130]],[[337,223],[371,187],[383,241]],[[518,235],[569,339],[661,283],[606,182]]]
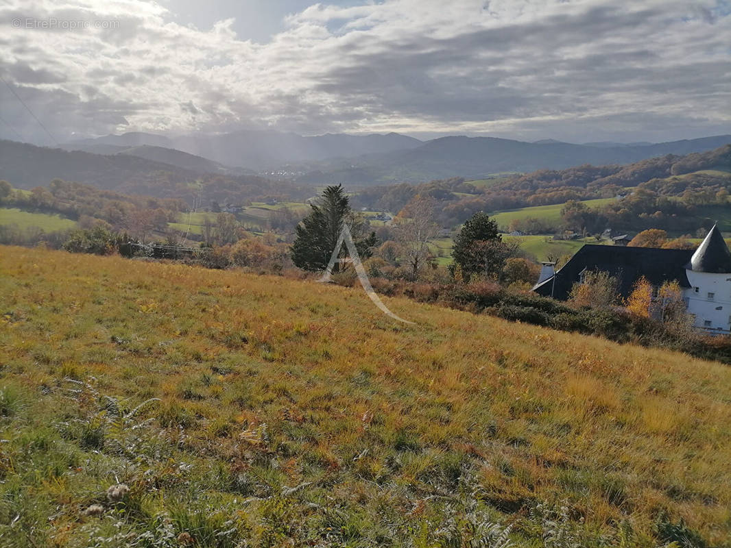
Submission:
[[[151,146],[174,148],[231,167],[272,170],[291,162],[355,158],[365,154],[390,153],[422,145],[413,137],[398,133],[348,135],[325,134],[302,136],[275,131],[240,131],[220,135],[192,134],[164,137],[150,133],[107,135],[96,139],[69,142],[64,148],[91,150],[99,145],[113,147]],[[103,149],[102,149],[103,150]],[[122,149],[110,149],[116,153]]]

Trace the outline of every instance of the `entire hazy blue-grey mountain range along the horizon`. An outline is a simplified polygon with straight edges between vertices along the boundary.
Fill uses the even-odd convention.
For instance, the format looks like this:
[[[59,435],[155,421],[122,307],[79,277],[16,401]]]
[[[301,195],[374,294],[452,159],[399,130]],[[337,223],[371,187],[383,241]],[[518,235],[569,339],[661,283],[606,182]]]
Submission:
[[[196,172],[252,173],[298,183],[367,185],[422,182],[496,172],[564,169],[580,164],[629,164],[665,154],[708,151],[731,135],[673,142],[589,142],[553,139],[523,142],[496,137],[450,136],[420,141],[401,134],[302,136],[275,131],[164,137],[149,133],[107,135],[64,145],[67,150],[137,156]]]

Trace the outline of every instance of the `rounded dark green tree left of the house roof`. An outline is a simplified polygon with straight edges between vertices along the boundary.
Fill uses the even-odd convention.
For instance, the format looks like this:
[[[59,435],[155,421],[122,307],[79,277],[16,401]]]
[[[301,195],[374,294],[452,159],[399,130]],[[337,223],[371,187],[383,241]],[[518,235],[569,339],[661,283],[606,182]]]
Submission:
[[[465,281],[478,273],[497,277],[512,254],[515,254],[515,246],[502,241],[497,223],[487,213],[475,213],[455,237],[452,275],[458,268]]]

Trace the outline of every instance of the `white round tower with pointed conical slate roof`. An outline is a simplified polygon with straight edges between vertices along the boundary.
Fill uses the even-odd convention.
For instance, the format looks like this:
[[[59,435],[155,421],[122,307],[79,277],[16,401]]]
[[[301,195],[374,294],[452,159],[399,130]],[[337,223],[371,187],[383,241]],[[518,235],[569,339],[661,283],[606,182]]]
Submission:
[[[683,290],[694,325],[731,331],[731,252],[718,227],[708,232],[686,265],[690,287]]]

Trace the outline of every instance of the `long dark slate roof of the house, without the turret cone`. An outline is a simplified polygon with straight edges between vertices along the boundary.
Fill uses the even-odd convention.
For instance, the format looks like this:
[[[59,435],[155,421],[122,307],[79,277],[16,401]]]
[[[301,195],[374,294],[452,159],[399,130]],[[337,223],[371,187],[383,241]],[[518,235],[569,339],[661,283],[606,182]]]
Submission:
[[[654,286],[677,281],[690,287],[685,267],[693,254],[689,249],[629,248],[624,246],[586,245],[576,252],[561,270],[548,280],[537,283],[533,291],[544,297],[567,300],[571,288],[583,270],[602,270],[616,276],[619,293],[628,297],[632,286],[645,276]],[[554,281],[555,278],[555,281]],[[553,295],[551,294],[553,292]]]

